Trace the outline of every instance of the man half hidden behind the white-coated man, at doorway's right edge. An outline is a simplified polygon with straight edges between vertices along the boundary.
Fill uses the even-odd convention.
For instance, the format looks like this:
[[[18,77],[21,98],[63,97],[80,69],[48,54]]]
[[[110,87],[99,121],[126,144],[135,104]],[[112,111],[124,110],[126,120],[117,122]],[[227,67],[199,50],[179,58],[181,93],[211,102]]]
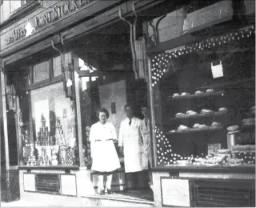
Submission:
[[[142,151],[142,169],[148,170],[150,179],[150,188],[153,190],[153,179],[150,168],[152,167],[152,155],[151,155],[151,139],[150,139],[150,114],[147,106],[142,106],[142,114],[144,119],[142,120],[141,132],[143,138],[143,151]]]

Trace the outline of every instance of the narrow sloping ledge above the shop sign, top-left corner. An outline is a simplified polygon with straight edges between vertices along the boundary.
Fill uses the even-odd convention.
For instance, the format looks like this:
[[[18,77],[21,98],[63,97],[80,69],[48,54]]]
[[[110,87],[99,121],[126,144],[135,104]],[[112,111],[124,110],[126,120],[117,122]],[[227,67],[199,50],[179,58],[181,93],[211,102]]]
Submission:
[[[18,19],[33,12],[38,6],[42,6],[42,0],[32,0],[25,5],[19,7],[14,11],[14,14],[10,15],[10,18],[0,23],[0,28],[4,29],[6,26],[10,26],[11,23],[18,21]]]

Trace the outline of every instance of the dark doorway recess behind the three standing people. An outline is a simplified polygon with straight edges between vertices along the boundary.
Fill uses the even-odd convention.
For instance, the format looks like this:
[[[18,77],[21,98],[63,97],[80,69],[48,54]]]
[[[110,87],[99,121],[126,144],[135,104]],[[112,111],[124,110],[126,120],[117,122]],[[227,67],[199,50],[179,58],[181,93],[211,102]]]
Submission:
[[[110,113],[109,121],[117,134],[120,123],[126,118],[123,107],[134,106],[134,116],[142,118],[141,106],[147,104],[145,80],[135,80],[130,51],[130,31],[123,22],[109,26],[95,34],[87,35],[72,42],[72,51],[78,58],[80,76],[80,104],[82,112],[83,146],[90,163],[90,126],[98,122],[97,110],[104,107]],[[118,142],[114,143],[118,152]],[[143,191],[134,191],[134,182],[124,173],[123,156],[118,152],[122,168],[114,173],[112,187],[116,193],[130,197],[141,195],[151,198],[146,174],[139,180]],[[93,177],[94,178],[94,177]],[[131,185],[130,185],[131,184]],[[97,183],[94,182],[97,186]],[[96,187],[95,187],[96,188]],[[123,192],[123,190],[130,190]],[[142,193],[143,192],[143,193]],[[148,193],[151,193],[149,196]]]

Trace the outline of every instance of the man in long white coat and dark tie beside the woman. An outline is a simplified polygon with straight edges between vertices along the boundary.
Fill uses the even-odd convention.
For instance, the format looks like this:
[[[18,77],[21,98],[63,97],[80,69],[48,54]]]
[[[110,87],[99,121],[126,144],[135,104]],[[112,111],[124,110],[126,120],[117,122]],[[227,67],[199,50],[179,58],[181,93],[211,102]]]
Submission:
[[[121,154],[124,154],[125,172],[128,179],[128,187],[138,189],[138,177],[142,171],[142,134],[141,122],[134,117],[131,106],[125,106],[126,119],[121,122],[118,146]]]

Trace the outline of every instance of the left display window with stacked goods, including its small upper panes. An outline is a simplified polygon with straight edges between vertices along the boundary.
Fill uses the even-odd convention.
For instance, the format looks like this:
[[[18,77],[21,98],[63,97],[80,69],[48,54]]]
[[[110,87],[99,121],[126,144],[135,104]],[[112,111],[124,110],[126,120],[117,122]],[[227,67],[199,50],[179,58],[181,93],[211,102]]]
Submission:
[[[65,65],[72,55],[65,54]],[[19,90],[23,166],[78,165],[75,101],[63,86],[61,58],[46,59],[28,67]]]

